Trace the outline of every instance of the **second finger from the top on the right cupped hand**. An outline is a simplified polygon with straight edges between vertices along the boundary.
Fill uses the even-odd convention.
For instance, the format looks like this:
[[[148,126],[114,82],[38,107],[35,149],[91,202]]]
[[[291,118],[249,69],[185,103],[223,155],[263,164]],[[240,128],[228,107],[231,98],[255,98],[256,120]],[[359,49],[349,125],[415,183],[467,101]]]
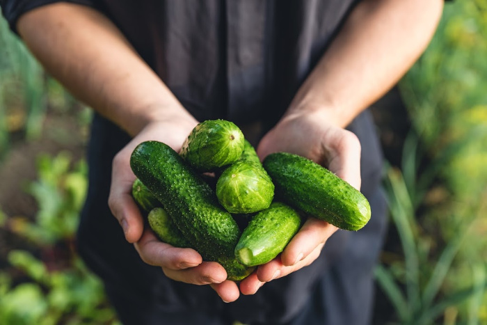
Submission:
[[[323,246],[324,244],[319,244],[310,254],[308,254],[308,256],[304,257],[303,260],[291,266],[282,264],[280,258],[276,258],[269,263],[261,265],[255,272],[257,280],[261,283],[266,283],[292,274],[292,272],[298,271],[298,269],[302,269],[303,267],[307,267],[319,257]]]

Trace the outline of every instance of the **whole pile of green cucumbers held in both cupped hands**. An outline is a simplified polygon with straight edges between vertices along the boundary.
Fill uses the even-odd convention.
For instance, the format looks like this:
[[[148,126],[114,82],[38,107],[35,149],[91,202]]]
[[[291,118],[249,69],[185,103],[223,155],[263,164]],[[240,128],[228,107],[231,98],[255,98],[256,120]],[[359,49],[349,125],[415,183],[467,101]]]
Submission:
[[[326,168],[276,152],[261,163],[241,130],[206,120],[181,152],[145,141],[131,154],[132,195],[156,235],[220,263],[230,280],[273,260],[313,216],[344,230],[370,219],[365,196]]]

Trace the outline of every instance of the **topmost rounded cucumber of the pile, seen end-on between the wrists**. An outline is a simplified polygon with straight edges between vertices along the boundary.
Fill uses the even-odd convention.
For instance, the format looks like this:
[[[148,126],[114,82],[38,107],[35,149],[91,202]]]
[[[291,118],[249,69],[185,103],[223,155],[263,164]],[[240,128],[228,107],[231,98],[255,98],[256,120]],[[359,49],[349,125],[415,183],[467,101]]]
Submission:
[[[227,120],[205,120],[191,131],[181,157],[198,171],[215,171],[237,161],[244,150],[244,134]]]

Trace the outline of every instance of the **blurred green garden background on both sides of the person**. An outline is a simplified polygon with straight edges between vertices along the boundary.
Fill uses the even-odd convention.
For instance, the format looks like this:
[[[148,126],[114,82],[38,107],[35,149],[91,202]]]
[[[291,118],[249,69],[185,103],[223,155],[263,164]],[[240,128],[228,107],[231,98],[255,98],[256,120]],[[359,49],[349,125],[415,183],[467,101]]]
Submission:
[[[487,0],[447,3],[372,111],[390,208],[374,324],[487,324]],[[90,116],[0,19],[0,324],[118,324],[74,249]]]

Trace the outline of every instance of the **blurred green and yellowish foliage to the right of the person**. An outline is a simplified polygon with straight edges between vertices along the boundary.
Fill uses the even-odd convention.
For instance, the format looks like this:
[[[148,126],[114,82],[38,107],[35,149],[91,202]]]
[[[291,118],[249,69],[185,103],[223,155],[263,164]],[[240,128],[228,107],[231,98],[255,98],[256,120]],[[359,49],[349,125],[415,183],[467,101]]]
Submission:
[[[487,324],[486,58],[487,1],[456,0],[399,84],[413,130],[386,189],[404,259],[376,275],[401,324]]]

